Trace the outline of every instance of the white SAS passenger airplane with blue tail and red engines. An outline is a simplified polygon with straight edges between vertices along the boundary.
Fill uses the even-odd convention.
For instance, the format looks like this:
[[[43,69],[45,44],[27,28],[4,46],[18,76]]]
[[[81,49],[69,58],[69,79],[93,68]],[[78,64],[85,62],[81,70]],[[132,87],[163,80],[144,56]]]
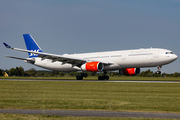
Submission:
[[[87,77],[85,72],[103,72],[102,76],[98,76],[98,80],[109,80],[107,72],[115,70],[122,75],[139,75],[140,68],[144,67],[157,67],[156,73],[161,74],[160,69],[163,65],[178,58],[172,51],[161,48],[57,55],[43,52],[30,34],[23,34],[23,37],[27,50],[3,44],[6,48],[28,53],[29,58],[5,57],[24,60],[24,62],[54,71],[81,71],[81,74],[76,76],[77,80]]]

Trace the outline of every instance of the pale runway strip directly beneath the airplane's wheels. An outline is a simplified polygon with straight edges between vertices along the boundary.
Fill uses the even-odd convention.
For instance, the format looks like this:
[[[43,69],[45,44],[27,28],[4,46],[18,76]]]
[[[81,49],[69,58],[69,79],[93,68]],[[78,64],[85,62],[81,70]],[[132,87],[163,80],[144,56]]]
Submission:
[[[62,80],[62,79],[0,79],[8,81],[73,81],[73,82],[134,82],[134,83],[180,83],[180,81],[149,81],[149,80]]]

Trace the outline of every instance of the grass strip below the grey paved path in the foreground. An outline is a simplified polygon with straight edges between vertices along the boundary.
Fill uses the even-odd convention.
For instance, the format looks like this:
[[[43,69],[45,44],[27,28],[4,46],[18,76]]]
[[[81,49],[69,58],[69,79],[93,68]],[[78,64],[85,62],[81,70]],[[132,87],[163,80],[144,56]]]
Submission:
[[[177,120],[163,118],[62,117],[49,115],[0,114],[1,120]]]

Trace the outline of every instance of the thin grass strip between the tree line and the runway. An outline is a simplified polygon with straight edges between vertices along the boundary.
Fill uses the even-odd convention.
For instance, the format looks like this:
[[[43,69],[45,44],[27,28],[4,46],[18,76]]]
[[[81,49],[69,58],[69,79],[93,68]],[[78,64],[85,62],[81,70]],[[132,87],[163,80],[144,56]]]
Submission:
[[[76,77],[0,77],[0,79],[51,79],[51,80],[75,80]],[[84,80],[98,80],[98,76],[90,76]],[[110,77],[110,80],[149,80],[149,81],[180,81],[180,77],[139,77],[139,76],[121,76]]]

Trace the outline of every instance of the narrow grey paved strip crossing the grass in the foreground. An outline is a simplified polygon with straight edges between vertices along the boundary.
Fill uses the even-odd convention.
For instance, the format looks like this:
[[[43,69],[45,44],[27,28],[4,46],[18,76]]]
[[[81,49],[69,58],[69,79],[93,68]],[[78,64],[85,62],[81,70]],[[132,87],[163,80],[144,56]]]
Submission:
[[[77,111],[77,110],[27,110],[27,109],[0,109],[0,113],[14,114],[41,114],[74,117],[135,117],[135,118],[175,118],[176,113],[145,113],[145,112],[112,112],[112,111]]]

